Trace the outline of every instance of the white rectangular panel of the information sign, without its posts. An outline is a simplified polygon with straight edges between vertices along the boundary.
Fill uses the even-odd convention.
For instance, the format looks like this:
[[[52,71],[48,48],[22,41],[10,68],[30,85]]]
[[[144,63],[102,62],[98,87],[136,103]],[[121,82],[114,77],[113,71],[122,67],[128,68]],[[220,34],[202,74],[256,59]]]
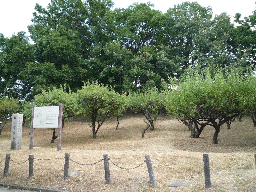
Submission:
[[[33,128],[58,128],[60,106],[35,107]]]

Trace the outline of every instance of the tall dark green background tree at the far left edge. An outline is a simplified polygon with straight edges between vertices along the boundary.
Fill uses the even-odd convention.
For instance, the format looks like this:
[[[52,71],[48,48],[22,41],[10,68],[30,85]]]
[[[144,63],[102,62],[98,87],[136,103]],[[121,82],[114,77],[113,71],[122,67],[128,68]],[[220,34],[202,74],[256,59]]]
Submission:
[[[25,32],[10,38],[0,34],[0,97],[28,99],[30,84],[22,77],[26,62],[33,62],[35,50]],[[31,99],[31,98],[30,98]]]

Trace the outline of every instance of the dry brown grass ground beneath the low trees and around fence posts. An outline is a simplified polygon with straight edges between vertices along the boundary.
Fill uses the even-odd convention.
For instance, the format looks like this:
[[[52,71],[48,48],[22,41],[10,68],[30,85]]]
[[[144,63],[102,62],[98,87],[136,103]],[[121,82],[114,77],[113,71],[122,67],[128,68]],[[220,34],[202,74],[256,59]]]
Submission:
[[[219,144],[212,144],[214,129],[206,127],[199,139],[189,138],[188,128],[169,116],[160,116],[156,130],[147,131],[140,114],[125,114],[108,120],[92,139],[88,123],[76,120],[66,123],[62,134],[62,150],[56,151],[56,142],[50,144],[52,130],[36,129],[34,149],[29,150],[29,129],[23,128],[22,149],[10,150],[10,126],[0,136],[0,161],[7,153],[15,162],[24,162],[34,154],[34,176],[28,178],[28,162],[10,162],[7,177],[0,182],[27,186],[63,189],[70,192],[253,192],[256,191],[256,128],[250,118],[232,122],[220,131]],[[40,158],[70,158],[81,164],[90,164],[103,158],[103,154],[124,168],[132,168],[150,155],[158,187],[149,184],[146,163],[133,170],[123,170],[110,162],[111,183],[105,184],[103,161],[93,166],[83,166],[70,161],[69,171],[78,171],[75,177],[63,180],[64,159],[37,160]],[[205,189],[203,153],[209,154],[212,188]],[[0,163],[0,173],[4,162]],[[168,188],[176,181],[186,181],[188,187]]]

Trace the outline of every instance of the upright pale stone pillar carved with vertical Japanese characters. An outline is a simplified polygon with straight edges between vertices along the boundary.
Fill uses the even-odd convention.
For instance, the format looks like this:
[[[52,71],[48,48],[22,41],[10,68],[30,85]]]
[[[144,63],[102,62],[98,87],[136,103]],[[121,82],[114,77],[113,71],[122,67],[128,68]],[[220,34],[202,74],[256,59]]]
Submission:
[[[23,115],[12,115],[11,150],[21,149]]]

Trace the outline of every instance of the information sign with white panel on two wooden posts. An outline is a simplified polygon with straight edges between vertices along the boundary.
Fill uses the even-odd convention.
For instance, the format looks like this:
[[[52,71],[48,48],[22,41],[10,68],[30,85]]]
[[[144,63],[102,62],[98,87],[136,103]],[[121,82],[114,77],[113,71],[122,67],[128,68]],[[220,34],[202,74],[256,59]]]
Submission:
[[[57,151],[61,150],[63,104],[36,107],[33,105],[29,149],[33,149],[34,128],[58,128]]]

